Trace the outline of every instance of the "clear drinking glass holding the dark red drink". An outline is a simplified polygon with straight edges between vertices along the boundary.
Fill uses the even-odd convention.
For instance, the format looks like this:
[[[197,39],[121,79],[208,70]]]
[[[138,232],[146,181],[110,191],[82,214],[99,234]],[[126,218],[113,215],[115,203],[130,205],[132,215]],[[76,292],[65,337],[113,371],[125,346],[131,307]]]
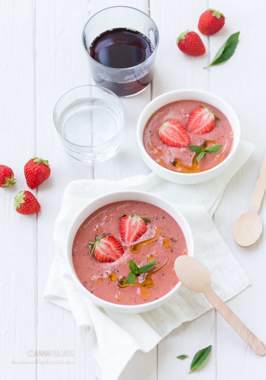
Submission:
[[[153,49],[150,57],[129,68],[111,68],[94,60],[89,54],[91,44],[101,33],[114,28],[127,28],[148,37]],[[146,13],[128,6],[102,9],[88,20],[82,32],[82,44],[94,82],[120,97],[136,95],[148,86],[153,76],[158,42],[159,32],[154,21]]]

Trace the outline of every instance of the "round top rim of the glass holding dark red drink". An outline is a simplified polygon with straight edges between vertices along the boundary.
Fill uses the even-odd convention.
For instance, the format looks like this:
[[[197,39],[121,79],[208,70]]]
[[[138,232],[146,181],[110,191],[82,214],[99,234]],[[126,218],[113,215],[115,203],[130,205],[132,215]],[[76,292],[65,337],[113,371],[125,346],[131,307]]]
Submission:
[[[107,8],[104,8],[104,9],[100,9],[98,12],[94,13],[89,19],[88,21],[86,22],[86,24],[84,25],[83,29],[82,29],[82,35],[81,35],[81,41],[82,41],[82,46],[83,46],[83,49],[85,50],[85,53],[87,55],[87,57],[89,57],[94,63],[98,64],[100,67],[103,67],[105,69],[108,69],[108,70],[114,70],[114,71],[125,71],[125,70],[134,70],[135,68],[138,68],[140,67],[141,65],[143,65],[144,62],[142,63],[139,63],[138,65],[135,65],[135,66],[131,66],[131,67],[124,67],[124,68],[116,68],[116,67],[109,67],[109,66],[105,66],[105,65],[102,65],[102,63],[100,62],[97,62],[95,59],[93,59],[90,54],[88,53],[87,49],[86,49],[86,44],[84,42],[84,36],[85,36],[85,28],[87,27],[88,23],[91,21],[91,19],[93,19],[94,16],[96,16],[98,13],[101,13],[103,11],[106,11],[107,9],[112,9],[112,8],[129,8],[129,9],[134,9],[135,11],[138,11],[140,13],[143,13],[146,17],[148,17],[148,19],[151,20],[151,22],[153,23],[154,27],[155,27],[155,30],[156,30],[156,33],[157,33],[157,44],[154,48],[154,51],[153,53],[150,55],[150,57],[148,57],[144,62],[150,62],[151,60],[151,57],[154,57],[154,54],[156,53],[157,51],[157,48],[158,48],[158,44],[159,44],[159,30],[157,28],[157,25],[155,24],[155,22],[153,21],[153,19],[145,12],[141,11],[140,9],[137,9],[137,8],[134,8],[132,6],[126,6],[126,5],[115,5],[115,6],[109,6]],[[97,36],[95,36],[96,38]],[[94,40],[95,40],[94,38]],[[94,41],[93,40],[93,41]]]

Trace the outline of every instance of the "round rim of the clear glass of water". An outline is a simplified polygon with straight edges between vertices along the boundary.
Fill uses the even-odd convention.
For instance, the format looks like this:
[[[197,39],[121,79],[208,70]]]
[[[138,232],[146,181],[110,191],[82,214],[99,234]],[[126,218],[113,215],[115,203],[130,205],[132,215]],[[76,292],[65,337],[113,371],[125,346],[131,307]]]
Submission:
[[[68,94],[69,92],[72,92],[74,90],[77,90],[77,89],[81,89],[81,88],[84,88],[84,87],[88,87],[88,88],[91,88],[91,87],[96,87],[98,89],[101,89],[101,90],[104,90],[105,92],[109,92],[110,95],[114,95],[114,97],[119,101],[121,107],[122,107],[122,114],[121,114],[121,118],[122,118],[122,121],[121,121],[121,124],[120,124],[120,129],[119,131],[116,133],[115,136],[113,136],[110,140],[108,141],[105,141],[103,142],[102,144],[97,144],[97,145],[80,145],[80,144],[76,144],[75,142],[72,142],[72,141],[69,141],[68,139],[66,139],[58,130],[57,128],[57,122],[55,120],[55,109],[57,108],[57,105],[58,103],[60,102],[60,100],[66,95]],[[66,91],[65,93],[63,93],[63,95],[60,96],[60,98],[57,100],[57,102],[55,103],[55,106],[54,106],[54,110],[53,110],[53,121],[54,121],[54,126],[55,126],[55,129],[58,133],[58,135],[60,136],[60,138],[62,138],[63,140],[65,140],[66,142],[68,142],[69,144],[73,145],[73,146],[78,146],[78,147],[81,147],[81,148],[95,148],[95,147],[101,147],[101,146],[104,146],[105,144],[110,144],[111,141],[115,140],[116,137],[118,136],[119,133],[121,133],[121,131],[123,131],[124,129],[124,125],[125,125],[125,120],[126,120],[126,115],[125,115],[125,108],[124,108],[124,105],[121,101],[121,99],[114,93],[112,92],[111,90],[109,89],[106,89],[105,87],[102,87],[102,86],[97,86],[96,84],[83,84],[82,86],[76,86],[76,87],[73,87],[72,89],[69,89],[68,91]]]

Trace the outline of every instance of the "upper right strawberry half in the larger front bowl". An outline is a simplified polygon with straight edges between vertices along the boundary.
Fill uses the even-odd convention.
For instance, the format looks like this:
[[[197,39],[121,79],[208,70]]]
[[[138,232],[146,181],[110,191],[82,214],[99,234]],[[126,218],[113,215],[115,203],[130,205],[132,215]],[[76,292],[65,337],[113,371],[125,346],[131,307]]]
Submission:
[[[123,214],[119,221],[121,240],[125,244],[137,241],[147,230],[146,222],[150,223],[150,219],[137,214]]]

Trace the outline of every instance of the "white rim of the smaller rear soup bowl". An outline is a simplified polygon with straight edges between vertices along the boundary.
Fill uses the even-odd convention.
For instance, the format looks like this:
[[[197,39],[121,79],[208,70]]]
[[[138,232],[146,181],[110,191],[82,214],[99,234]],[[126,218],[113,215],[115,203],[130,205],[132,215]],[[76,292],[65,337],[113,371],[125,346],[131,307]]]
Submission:
[[[232,112],[233,116],[236,118],[237,120],[237,123],[236,125],[234,125],[233,128],[237,129],[238,130],[238,136],[237,138],[235,138],[235,134],[234,134],[234,143],[233,143],[233,146],[228,154],[228,156],[222,161],[219,163],[219,165],[216,165],[214,166],[213,168],[211,169],[208,169],[208,170],[205,170],[205,171],[201,171],[201,172],[198,172],[198,173],[180,173],[178,171],[173,171],[173,170],[170,170],[170,169],[167,169],[167,168],[164,168],[163,166],[157,164],[151,157],[150,155],[148,154],[148,152],[146,152],[146,149],[145,149],[145,146],[144,146],[144,143],[143,143],[143,131],[144,131],[144,128],[145,128],[145,125],[143,126],[142,128],[142,119],[144,118],[146,112],[147,112],[147,109],[149,109],[154,103],[156,103],[159,99],[163,100],[164,98],[166,98],[169,94],[179,94],[179,93],[183,93],[183,92],[188,92],[188,93],[195,93],[195,95],[209,95],[211,96],[212,98],[216,99],[218,102],[222,103],[225,107],[227,107],[228,109],[230,109],[230,111]],[[183,100],[186,100],[185,98]],[[192,100],[192,99],[191,99]],[[197,100],[197,99],[195,99]],[[170,101],[170,102],[167,102],[167,103],[164,103],[164,104],[161,104],[161,106],[159,106],[157,109],[169,104],[169,103],[173,103],[175,100],[173,101]],[[178,100],[176,100],[178,101]],[[163,103],[163,102],[162,102]],[[208,103],[208,102],[206,102]],[[216,107],[216,106],[215,106]],[[219,108],[219,107],[216,107],[216,108]],[[224,113],[224,112],[223,112]],[[225,114],[225,113],[224,113]],[[227,115],[225,114],[225,116],[227,117]],[[147,120],[148,121],[148,120]],[[206,173],[214,173],[217,168],[219,168],[219,170],[221,170],[221,168],[223,166],[226,166],[228,161],[230,161],[230,159],[233,157],[233,155],[235,155],[235,152],[236,152],[236,149],[238,148],[238,145],[239,145],[239,142],[240,142],[240,136],[241,136],[241,128],[240,128],[240,122],[239,122],[239,119],[238,119],[238,116],[236,114],[236,112],[233,110],[233,108],[227,103],[227,101],[225,101],[224,99],[220,98],[219,96],[209,92],[209,91],[204,91],[204,90],[198,90],[198,89],[179,89],[179,90],[172,90],[172,91],[168,91],[168,92],[165,92],[159,96],[157,96],[156,98],[154,98],[153,100],[150,101],[150,103],[148,103],[145,108],[143,109],[143,111],[141,112],[140,116],[139,116],[139,119],[138,119],[138,122],[137,122],[137,142],[138,142],[138,145],[139,145],[139,149],[140,151],[142,152],[142,154],[145,155],[146,159],[148,160],[148,162],[150,163],[150,165],[148,165],[150,167],[151,170],[153,170],[153,165],[154,163],[158,166],[156,166],[156,168],[158,169],[158,171],[162,171],[162,173],[165,173],[165,175],[172,175],[172,176],[176,176],[176,177],[183,177],[183,178],[188,178],[188,177],[204,177],[206,176]],[[172,173],[172,174],[169,174],[169,173]],[[218,174],[218,173],[217,173]],[[211,175],[211,174],[210,174]]]

